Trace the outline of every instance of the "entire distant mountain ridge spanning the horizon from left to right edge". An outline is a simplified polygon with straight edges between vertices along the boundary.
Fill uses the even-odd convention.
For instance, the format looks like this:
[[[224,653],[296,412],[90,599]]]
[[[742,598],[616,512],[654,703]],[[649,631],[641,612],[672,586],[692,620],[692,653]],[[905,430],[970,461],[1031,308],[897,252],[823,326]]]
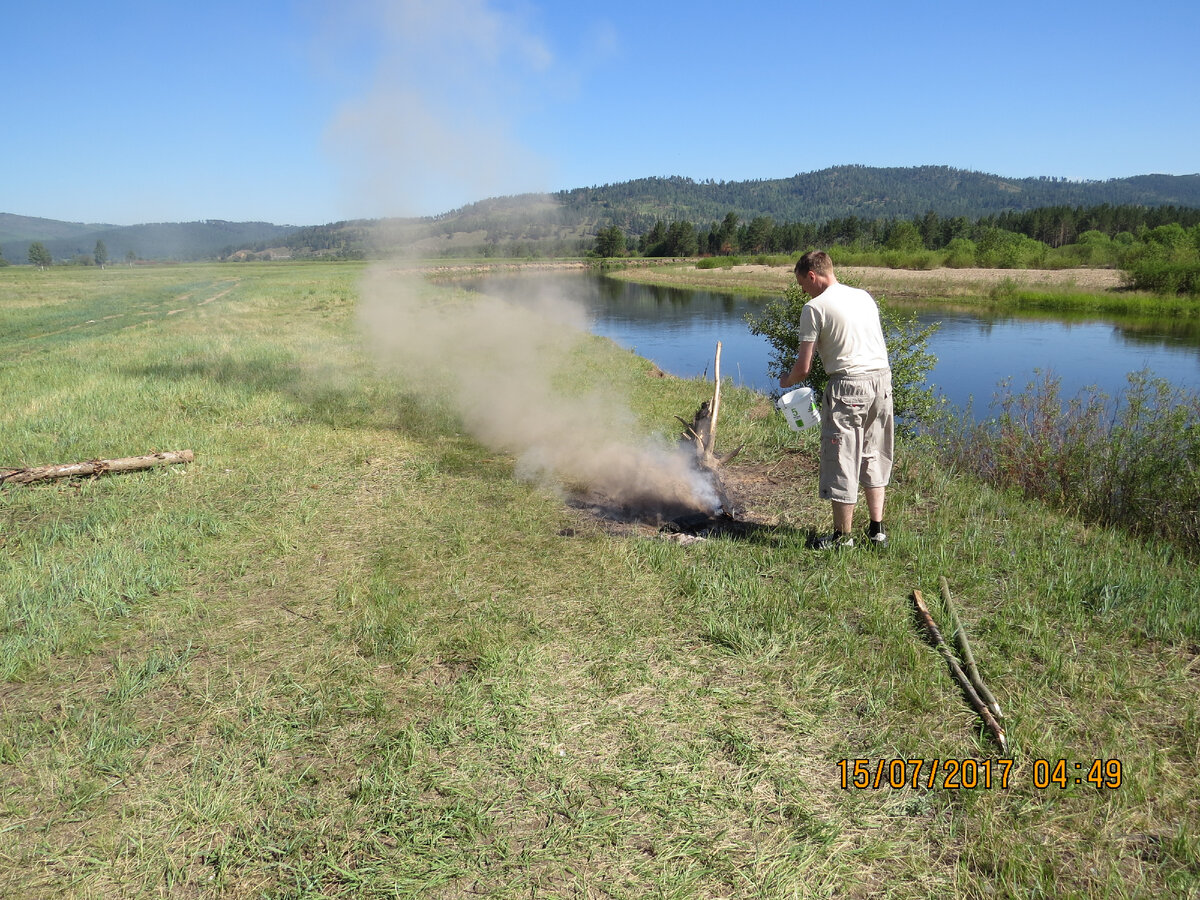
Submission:
[[[24,263],[35,240],[64,260],[92,253],[97,240],[104,241],[113,262],[130,253],[139,259],[214,259],[281,246],[296,256],[401,247],[438,254],[499,241],[578,245],[613,224],[640,235],[659,220],[701,226],[728,212],[743,221],[769,216],[776,223],[821,223],[850,216],[912,218],[929,210],[973,220],[1006,211],[1103,204],[1200,209],[1200,174],[1072,181],[1002,178],[948,166],[838,166],[751,181],[644,178],[553,194],[494,197],[424,218],[356,220],[305,228],[221,220],[122,227],[0,214],[0,251],[10,263]]]

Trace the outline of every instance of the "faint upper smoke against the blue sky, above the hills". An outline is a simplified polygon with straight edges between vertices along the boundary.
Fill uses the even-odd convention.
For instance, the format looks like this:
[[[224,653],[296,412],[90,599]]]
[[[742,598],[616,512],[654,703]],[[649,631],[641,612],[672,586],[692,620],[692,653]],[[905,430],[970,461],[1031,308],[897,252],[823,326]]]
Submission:
[[[517,136],[557,89],[533,29],[487,0],[348,0],[328,38],[366,78],[326,133],[355,206],[436,215],[546,190],[550,161]]]

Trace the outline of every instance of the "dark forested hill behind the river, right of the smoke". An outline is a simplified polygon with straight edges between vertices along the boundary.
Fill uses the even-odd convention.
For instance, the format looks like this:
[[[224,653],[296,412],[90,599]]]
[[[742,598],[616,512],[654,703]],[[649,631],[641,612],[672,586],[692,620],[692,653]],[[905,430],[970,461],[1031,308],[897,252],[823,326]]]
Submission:
[[[594,218],[638,233],[656,218],[710,222],[731,211],[746,220],[770,216],[776,222],[823,222],[847,216],[912,218],[929,210],[978,218],[1042,206],[1200,208],[1200,174],[1069,181],[1001,178],[946,166],[839,166],[762,181],[646,178],[562,191],[557,197],[574,214],[571,218]]]

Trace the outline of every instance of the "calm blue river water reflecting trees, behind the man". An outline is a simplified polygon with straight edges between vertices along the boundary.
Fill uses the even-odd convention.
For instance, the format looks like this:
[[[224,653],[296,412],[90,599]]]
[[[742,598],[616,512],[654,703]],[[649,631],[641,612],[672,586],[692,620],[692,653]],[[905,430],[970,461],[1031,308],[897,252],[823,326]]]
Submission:
[[[529,280],[536,280],[534,288]],[[595,275],[524,275],[490,278],[472,287],[514,300],[534,290],[571,298],[586,311],[590,330],[653,360],[671,374],[713,374],[721,342],[721,374],[736,384],[778,392],[767,376],[772,348],[751,335],[746,313],[761,300],[702,290],[631,284]],[[944,311],[918,311],[924,323],[942,325],[930,341],[937,365],[929,382],[952,403],[977,412],[991,402],[1006,378],[1024,388],[1034,370],[1052,371],[1062,394],[1097,385],[1118,394],[1129,372],[1144,368],[1171,384],[1200,392],[1200,334],[1171,320],[1121,323],[1116,319],[984,318]],[[1177,330],[1172,332],[1172,324]]]

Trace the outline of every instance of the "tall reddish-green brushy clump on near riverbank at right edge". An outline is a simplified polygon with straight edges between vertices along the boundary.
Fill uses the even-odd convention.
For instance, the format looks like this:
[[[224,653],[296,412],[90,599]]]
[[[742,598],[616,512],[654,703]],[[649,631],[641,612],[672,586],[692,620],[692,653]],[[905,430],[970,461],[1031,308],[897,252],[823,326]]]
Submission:
[[[982,422],[943,422],[943,455],[985,480],[1088,522],[1200,551],[1200,395],[1148,372],[1117,397],[1088,388],[1069,401],[1038,372],[1025,391],[1001,383]]]

